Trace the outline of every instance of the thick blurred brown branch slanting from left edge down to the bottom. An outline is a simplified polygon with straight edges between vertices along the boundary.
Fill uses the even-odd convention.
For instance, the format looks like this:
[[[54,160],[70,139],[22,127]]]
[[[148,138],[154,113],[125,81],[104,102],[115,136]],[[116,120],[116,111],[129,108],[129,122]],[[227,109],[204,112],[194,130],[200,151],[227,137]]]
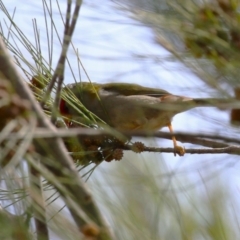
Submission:
[[[36,115],[38,126],[48,129],[49,132],[56,133],[56,128],[45,116],[40,105],[34,99],[28,85],[16,70],[13,60],[8,54],[2,38],[0,38],[0,78],[8,79],[18,95],[22,99],[26,99],[30,102],[31,111]],[[42,141],[40,139],[36,139],[34,141],[34,145],[41,156],[48,156],[49,159],[52,159],[53,162],[61,166],[61,171],[59,171],[59,166],[56,167],[54,164],[51,166],[46,164],[49,171],[56,177],[68,179],[68,181],[66,181],[67,183],[65,182],[61,184],[64,185],[65,188],[67,188],[72,194],[75,204],[79,208],[83,209],[89,218],[100,227],[101,231],[100,235],[97,236],[97,239],[112,239],[112,234],[108,230],[108,227],[89,191],[78,176],[78,172],[75,169],[72,159],[67,153],[63,141],[60,138],[45,139],[44,146],[42,146]],[[49,182],[51,183],[50,180]],[[60,192],[63,199],[66,200],[67,196],[65,195],[65,192],[61,191],[58,186],[55,187]],[[86,223],[83,221],[81,216],[76,213],[68,202],[66,202],[66,204],[79,229],[86,226]]]

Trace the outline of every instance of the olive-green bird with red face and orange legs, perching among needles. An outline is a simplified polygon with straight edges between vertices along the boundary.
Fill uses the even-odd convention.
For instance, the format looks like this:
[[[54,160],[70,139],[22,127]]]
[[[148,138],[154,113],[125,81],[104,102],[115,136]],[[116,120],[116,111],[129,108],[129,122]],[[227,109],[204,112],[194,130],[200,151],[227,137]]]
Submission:
[[[89,111],[120,131],[152,132],[168,127],[172,133],[171,121],[176,114],[194,107],[219,107],[232,102],[229,99],[193,99],[130,83],[80,82],[69,84],[64,90],[73,93]],[[61,99],[60,113],[79,119],[79,111],[73,104],[73,101]],[[172,139],[176,152],[184,155],[184,149],[177,146],[175,137]]]

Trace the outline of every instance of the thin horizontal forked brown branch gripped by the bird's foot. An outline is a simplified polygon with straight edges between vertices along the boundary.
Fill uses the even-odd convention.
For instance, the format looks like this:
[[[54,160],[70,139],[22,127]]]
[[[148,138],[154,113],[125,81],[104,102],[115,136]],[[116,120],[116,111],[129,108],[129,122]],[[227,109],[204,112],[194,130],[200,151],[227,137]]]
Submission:
[[[104,131],[104,130],[96,130],[92,128],[75,128],[75,129],[58,129],[57,132],[49,132],[48,130],[45,129],[40,129],[38,128],[35,133],[33,134],[33,138],[36,139],[47,139],[47,138],[68,138],[68,137],[98,137],[98,136],[103,136],[103,135],[108,135],[109,137],[116,136],[115,131],[112,134],[109,134],[109,131]],[[128,133],[118,133],[123,137],[124,134],[127,135],[127,137],[132,137],[132,136],[141,136],[141,137],[149,137],[149,133],[133,133],[130,134]],[[202,139],[199,138],[200,134],[189,134],[189,133],[176,133],[171,134],[171,133],[165,133],[165,132],[157,132],[153,134],[153,137],[162,137],[171,140],[172,136],[180,136],[180,140],[182,142],[186,143],[191,143],[191,144],[197,144],[201,146],[208,147],[210,149],[185,149],[186,153],[189,154],[219,154],[219,153],[228,153],[228,154],[234,154],[234,155],[239,155],[239,150],[240,146],[236,145],[229,145],[223,142],[218,142],[218,141],[213,141],[213,140],[207,140],[207,139]],[[216,136],[216,135],[210,135],[210,134],[201,134],[202,136],[208,137],[208,138],[215,138],[215,139],[220,139],[220,140],[231,140],[231,142],[238,142],[238,139],[234,138],[227,138],[224,136]],[[152,136],[152,135],[151,135]],[[181,138],[182,136],[182,138]],[[25,135],[19,135],[17,133],[10,133],[7,137],[7,139],[23,139]],[[125,138],[126,139],[126,138]],[[132,150],[131,145],[125,145],[124,147],[121,145],[119,146],[120,149],[123,150]],[[156,147],[144,147],[143,151],[149,151],[149,152],[164,152],[164,153],[174,153],[173,148],[156,148]]]

